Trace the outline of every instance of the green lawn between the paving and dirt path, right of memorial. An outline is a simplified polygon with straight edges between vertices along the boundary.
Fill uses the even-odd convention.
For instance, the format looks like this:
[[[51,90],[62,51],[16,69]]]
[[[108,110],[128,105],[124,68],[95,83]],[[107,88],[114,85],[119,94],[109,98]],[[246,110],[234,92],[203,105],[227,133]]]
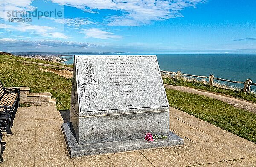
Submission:
[[[222,101],[166,89],[169,105],[256,143],[256,114]]]

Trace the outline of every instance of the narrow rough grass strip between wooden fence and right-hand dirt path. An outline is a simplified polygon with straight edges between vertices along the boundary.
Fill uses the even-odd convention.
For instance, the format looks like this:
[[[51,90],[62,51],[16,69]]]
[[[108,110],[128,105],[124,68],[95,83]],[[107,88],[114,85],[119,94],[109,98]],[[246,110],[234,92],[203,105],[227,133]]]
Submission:
[[[233,96],[235,98],[239,98],[242,100],[256,103],[256,95],[253,95],[251,93],[246,94],[242,91],[233,91],[233,90],[229,90],[229,89],[210,87],[209,85],[203,84],[200,82],[188,82],[188,81],[183,81],[183,80],[170,79],[170,78],[166,78],[166,77],[163,78],[163,83],[169,84],[169,85],[176,85],[176,86],[186,86],[186,87],[201,89],[201,90],[205,90],[205,91],[209,91],[209,92],[222,93],[225,95]]]

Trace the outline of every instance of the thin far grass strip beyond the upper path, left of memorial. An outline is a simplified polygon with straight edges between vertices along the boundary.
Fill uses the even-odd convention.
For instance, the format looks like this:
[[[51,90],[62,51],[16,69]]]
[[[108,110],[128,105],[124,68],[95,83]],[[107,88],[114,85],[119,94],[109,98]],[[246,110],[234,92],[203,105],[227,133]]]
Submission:
[[[2,55],[2,54],[0,54],[0,58],[9,58],[9,59],[24,60],[24,61],[30,61],[30,62],[36,62],[36,63],[52,64],[52,65],[57,65],[57,66],[73,67],[73,65],[65,65],[65,64],[62,64],[62,63],[53,63],[53,62],[39,60],[39,59],[35,59],[35,58],[23,58],[23,57],[12,56],[12,55]]]

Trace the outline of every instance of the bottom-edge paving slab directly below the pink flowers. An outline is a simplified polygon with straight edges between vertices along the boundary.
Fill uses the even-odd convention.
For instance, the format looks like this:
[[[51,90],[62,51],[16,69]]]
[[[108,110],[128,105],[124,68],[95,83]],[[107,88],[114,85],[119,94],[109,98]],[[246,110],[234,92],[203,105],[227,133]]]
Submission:
[[[141,153],[155,167],[186,167],[192,165],[171,148],[145,150],[141,151]]]

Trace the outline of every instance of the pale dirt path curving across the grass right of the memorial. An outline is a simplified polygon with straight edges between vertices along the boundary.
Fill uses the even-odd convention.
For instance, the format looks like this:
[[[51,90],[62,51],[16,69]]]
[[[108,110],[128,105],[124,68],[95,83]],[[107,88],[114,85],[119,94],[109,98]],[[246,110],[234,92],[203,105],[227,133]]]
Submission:
[[[224,101],[228,104],[231,104],[239,109],[244,109],[244,110],[247,110],[247,111],[250,111],[250,112],[253,112],[256,114],[256,104],[249,103],[247,101],[242,101],[242,100],[230,97],[230,96],[219,95],[219,94],[215,94],[215,93],[211,93],[211,92],[203,92],[198,89],[193,89],[193,88],[184,87],[184,86],[164,85],[164,87],[166,89],[173,89],[173,90],[178,90],[181,92],[193,93],[193,94],[197,94],[197,95],[204,95],[204,96],[207,96],[210,98],[215,98],[217,100]]]

